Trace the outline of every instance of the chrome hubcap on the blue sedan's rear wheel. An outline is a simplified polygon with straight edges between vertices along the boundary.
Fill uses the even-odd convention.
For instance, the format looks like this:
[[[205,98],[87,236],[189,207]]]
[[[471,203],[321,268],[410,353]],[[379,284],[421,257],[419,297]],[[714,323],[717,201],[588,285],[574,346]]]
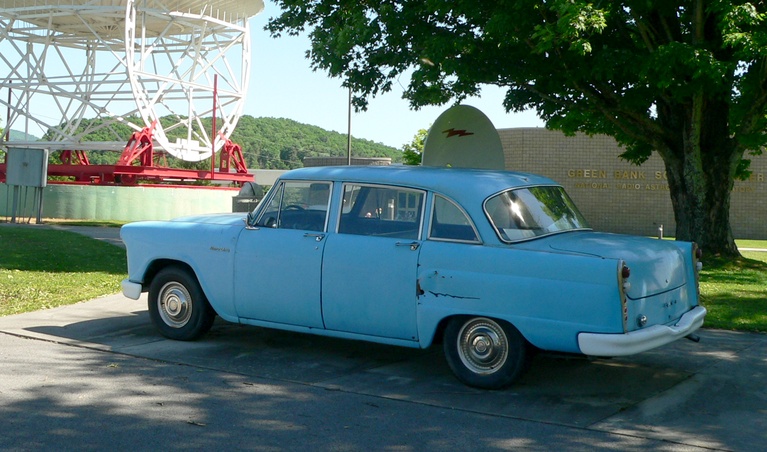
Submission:
[[[485,318],[467,322],[458,334],[458,355],[474,373],[487,375],[495,372],[509,356],[509,344],[503,328]]]

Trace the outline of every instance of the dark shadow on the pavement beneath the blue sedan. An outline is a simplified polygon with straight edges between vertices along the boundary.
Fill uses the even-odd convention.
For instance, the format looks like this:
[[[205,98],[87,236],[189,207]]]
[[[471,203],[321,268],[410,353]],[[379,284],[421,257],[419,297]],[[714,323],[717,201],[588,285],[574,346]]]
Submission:
[[[700,369],[701,344],[682,341],[621,359],[538,353],[511,387],[459,383],[441,346],[408,349],[227,323],[192,342],[163,338],[145,310],[26,331],[167,363],[451,409],[585,427],[657,396]],[[705,344],[705,342],[704,342]],[[705,345],[704,345],[705,347]],[[667,358],[668,357],[668,358]]]

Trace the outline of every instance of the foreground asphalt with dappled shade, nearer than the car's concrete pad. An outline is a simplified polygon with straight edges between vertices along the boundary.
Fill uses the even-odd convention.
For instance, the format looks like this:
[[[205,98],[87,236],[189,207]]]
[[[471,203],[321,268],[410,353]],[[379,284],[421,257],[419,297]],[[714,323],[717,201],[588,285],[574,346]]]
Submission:
[[[693,450],[0,333],[0,450]]]

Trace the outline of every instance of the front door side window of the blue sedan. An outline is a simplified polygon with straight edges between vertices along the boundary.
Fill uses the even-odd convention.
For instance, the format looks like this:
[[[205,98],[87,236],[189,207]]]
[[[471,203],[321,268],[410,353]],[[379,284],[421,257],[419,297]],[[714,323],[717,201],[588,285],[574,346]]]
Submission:
[[[261,214],[257,226],[324,231],[329,201],[330,183],[282,182]]]

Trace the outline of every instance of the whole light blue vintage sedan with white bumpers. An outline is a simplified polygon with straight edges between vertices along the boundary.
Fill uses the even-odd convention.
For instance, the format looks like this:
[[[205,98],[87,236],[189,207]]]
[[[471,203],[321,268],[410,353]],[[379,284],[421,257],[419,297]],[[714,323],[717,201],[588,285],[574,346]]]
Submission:
[[[703,324],[694,243],[592,231],[564,189],[524,173],[290,171],[244,214],[123,226],[123,293],[160,333],[242,324],[426,348],[501,388],[533,350],[621,356]]]

